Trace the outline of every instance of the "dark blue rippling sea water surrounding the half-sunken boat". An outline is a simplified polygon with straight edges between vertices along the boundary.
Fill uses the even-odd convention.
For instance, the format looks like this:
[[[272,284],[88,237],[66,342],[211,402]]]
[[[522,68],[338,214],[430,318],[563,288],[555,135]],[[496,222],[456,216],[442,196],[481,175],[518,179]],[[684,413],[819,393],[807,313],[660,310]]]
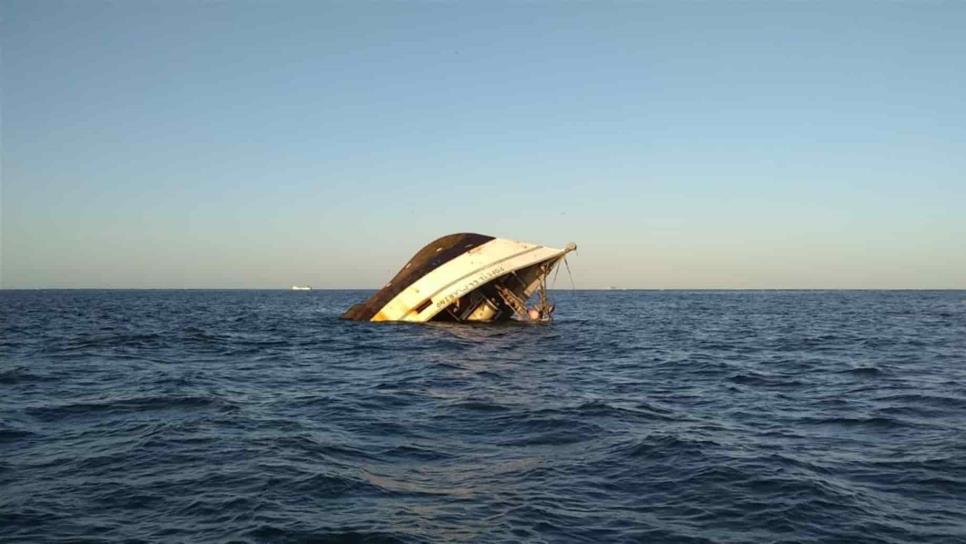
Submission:
[[[966,292],[0,292],[0,541],[966,542]]]

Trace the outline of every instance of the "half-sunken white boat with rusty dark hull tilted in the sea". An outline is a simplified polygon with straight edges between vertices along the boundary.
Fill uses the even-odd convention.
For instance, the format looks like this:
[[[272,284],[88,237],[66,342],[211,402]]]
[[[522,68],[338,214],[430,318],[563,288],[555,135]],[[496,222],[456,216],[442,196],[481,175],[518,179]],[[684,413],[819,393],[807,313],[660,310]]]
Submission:
[[[356,321],[486,322],[548,320],[547,276],[568,253],[563,249],[459,233],[430,242],[413,255],[369,300],[342,319]],[[534,307],[527,301],[539,292]]]

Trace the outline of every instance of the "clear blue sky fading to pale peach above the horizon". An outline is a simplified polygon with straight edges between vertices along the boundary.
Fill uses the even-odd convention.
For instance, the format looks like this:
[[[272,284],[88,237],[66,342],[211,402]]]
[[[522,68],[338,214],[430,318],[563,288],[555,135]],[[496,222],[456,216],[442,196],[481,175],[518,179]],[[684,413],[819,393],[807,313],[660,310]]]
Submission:
[[[6,288],[966,288],[966,2],[0,6]]]

